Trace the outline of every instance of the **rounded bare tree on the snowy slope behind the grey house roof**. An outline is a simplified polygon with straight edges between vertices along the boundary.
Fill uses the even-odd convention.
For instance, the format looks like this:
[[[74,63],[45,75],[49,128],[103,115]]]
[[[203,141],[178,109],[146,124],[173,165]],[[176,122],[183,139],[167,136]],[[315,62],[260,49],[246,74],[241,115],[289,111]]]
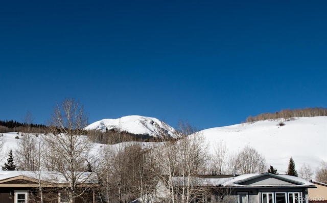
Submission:
[[[241,174],[264,172],[266,160],[254,148],[247,146],[238,154],[236,169]]]

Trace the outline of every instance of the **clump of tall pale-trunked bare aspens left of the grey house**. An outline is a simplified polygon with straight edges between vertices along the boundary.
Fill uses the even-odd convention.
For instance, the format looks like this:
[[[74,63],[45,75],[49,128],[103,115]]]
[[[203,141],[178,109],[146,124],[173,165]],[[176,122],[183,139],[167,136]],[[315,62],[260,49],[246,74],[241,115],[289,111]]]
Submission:
[[[156,148],[157,176],[168,188],[170,203],[189,203],[205,193],[198,175],[205,171],[206,143],[200,132],[180,122],[179,138],[160,136],[161,147]]]

